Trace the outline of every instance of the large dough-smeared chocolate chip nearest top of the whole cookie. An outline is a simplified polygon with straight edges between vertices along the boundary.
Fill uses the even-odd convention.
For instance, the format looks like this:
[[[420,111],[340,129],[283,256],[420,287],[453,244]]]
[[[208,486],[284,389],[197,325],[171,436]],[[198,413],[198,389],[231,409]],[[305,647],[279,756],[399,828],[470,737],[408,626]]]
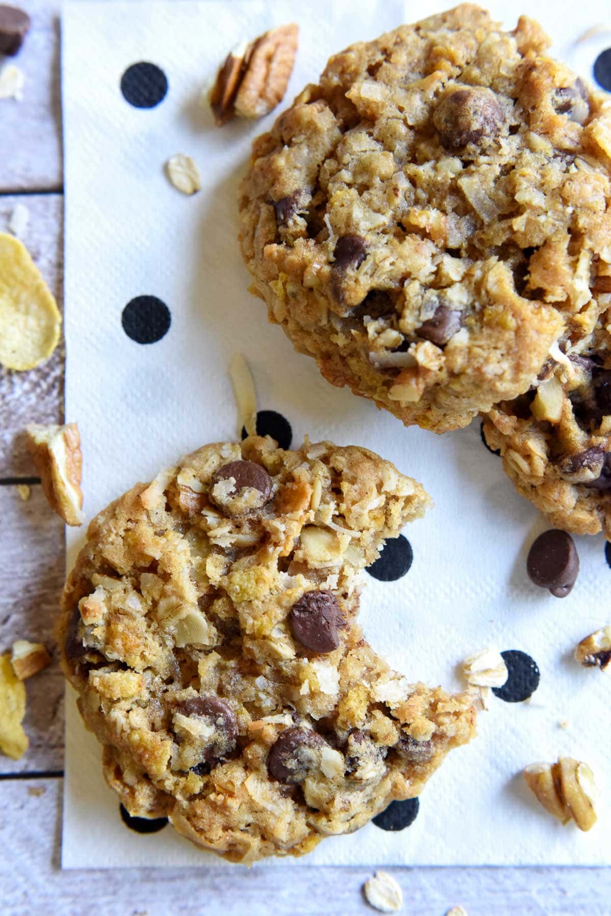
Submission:
[[[456,89],[438,104],[432,117],[446,149],[494,139],[505,112],[489,89]]]

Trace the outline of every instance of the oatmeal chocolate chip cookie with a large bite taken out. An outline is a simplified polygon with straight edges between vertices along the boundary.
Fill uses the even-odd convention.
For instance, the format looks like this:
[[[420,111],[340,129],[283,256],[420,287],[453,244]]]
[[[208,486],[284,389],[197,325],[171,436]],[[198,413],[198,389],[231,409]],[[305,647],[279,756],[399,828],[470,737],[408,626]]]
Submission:
[[[248,863],[420,793],[471,698],[391,671],[356,616],[359,571],[429,503],[365,449],[251,437],[93,519],[58,641],[130,814]]]

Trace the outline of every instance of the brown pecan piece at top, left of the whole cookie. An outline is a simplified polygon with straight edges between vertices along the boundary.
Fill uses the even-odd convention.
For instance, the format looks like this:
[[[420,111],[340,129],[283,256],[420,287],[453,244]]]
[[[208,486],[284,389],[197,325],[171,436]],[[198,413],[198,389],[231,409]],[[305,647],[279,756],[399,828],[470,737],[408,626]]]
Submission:
[[[232,51],[218,72],[210,104],[218,126],[237,114],[258,118],[284,98],[297,53],[299,28],[272,28]]]

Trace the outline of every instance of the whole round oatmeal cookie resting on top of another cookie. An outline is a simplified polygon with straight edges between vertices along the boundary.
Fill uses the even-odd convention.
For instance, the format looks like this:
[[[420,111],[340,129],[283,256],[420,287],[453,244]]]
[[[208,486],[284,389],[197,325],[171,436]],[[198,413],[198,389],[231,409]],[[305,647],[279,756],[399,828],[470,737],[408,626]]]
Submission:
[[[407,425],[523,394],[603,310],[611,114],[548,46],[458,6],[336,54],[254,143],[251,291]]]

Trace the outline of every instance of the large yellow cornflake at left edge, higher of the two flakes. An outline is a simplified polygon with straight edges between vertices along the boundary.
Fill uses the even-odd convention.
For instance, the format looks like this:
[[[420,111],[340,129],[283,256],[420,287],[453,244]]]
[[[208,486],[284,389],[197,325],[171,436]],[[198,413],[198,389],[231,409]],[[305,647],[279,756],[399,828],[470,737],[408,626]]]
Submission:
[[[27,248],[0,233],[0,364],[33,369],[60,340],[61,315]]]

